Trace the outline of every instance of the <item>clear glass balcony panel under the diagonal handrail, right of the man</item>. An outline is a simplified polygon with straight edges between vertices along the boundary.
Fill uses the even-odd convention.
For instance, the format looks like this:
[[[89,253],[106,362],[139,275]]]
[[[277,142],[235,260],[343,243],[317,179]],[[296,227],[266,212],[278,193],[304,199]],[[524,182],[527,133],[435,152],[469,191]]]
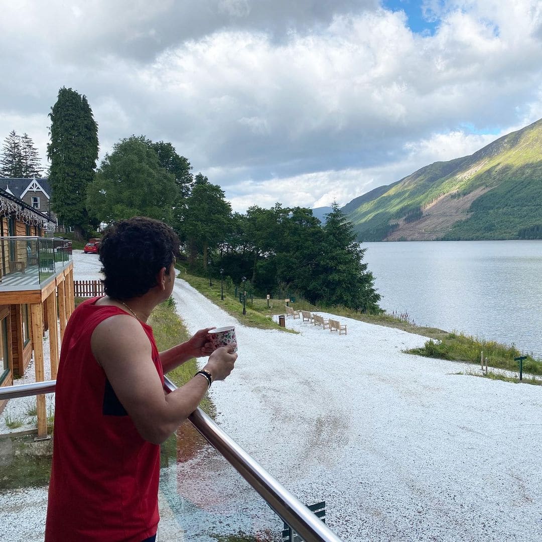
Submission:
[[[190,422],[163,444],[160,463],[160,539],[282,540],[282,519]]]

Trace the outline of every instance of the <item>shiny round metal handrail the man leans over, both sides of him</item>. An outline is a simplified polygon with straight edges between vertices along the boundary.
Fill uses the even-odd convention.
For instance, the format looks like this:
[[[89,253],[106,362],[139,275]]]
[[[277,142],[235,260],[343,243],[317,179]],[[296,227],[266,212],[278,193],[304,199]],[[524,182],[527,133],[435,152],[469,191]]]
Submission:
[[[0,401],[15,397],[28,397],[55,391],[56,380],[20,384],[0,388]],[[167,391],[177,386],[164,377]],[[211,418],[197,408],[188,417],[192,425],[212,447],[256,490],[264,501],[304,540],[314,542],[342,542],[342,540],[320,519],[318,519],[295,495],[275,480],[260,463],[254,460]]]

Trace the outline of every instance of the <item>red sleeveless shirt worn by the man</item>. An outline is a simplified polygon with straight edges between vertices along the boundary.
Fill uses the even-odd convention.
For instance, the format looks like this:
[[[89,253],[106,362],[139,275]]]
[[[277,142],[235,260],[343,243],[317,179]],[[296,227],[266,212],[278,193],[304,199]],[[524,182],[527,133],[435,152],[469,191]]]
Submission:
[[[62,340],[46,542],[140,542],[157,531],[160,447],[139,435],[91,351],[95,327],[126,312],[98,299],[75,309]],[[164,382],[152,328],[141,326]]]

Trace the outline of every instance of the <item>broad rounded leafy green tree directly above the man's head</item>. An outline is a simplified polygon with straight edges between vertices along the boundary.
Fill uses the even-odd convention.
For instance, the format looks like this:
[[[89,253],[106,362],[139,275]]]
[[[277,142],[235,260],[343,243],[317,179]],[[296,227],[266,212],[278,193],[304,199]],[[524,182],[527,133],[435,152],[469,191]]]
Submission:
[[[87,206],[100,222],[148,216],[169,223],[176,198],[173,174],[160,167],[145,137],[133,135],[106,154],[88,187]]]

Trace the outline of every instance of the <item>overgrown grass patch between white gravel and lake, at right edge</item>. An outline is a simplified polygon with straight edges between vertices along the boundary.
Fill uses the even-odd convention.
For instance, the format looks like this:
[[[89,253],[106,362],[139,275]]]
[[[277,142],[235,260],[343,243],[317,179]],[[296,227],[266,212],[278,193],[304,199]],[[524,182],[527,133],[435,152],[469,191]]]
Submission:
[[[488,367],[512,372],[519,371],[519,365],[514,362],[514,358],[519,357],[521,353],[515,346],[477,339],[463,333],[446,333],[439,342],[431,339],[420,348],[406,350],[406,353],[418,356],[476,364],[480,363],[481,352],[483,352],[483,357],[487,358]],[[527,356],[523,362],[523,371],[531,375],[542,375],[542,363]]]

